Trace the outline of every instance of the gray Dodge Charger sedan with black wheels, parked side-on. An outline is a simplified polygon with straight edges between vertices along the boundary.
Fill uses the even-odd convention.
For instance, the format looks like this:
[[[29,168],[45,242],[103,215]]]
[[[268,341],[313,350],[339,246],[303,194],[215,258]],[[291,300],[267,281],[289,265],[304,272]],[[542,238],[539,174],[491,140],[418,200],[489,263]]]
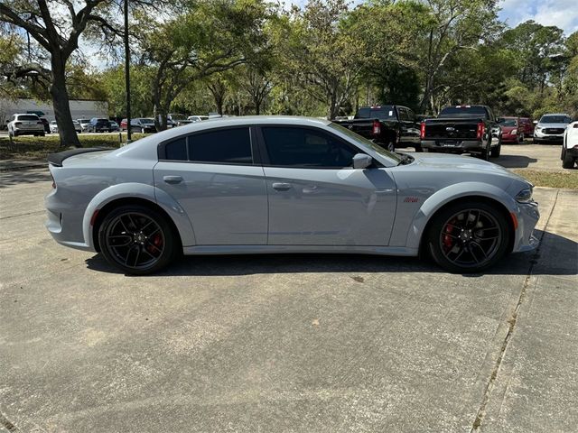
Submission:
[[[387,152],[319,119],[206,121],[49,162],[51,235],[126,273],[180,253],[424,253],[480,272],[536,246],[527,180],[471,157]]]

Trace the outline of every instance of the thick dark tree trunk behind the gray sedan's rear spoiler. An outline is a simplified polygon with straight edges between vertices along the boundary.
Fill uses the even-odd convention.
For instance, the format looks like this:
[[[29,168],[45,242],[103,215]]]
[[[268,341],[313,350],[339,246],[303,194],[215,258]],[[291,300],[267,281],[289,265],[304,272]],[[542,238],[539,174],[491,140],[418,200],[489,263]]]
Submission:
[[[52,97],[52,106],[56,124],[58,124],[58,134],[61,137],[62,147],[82,147],[79,137],[72,123],[70,113],[69,93],[66,89],[66,76],[64,74],[64,64],[60,56],[52,55],[52,83],[49,88]]]

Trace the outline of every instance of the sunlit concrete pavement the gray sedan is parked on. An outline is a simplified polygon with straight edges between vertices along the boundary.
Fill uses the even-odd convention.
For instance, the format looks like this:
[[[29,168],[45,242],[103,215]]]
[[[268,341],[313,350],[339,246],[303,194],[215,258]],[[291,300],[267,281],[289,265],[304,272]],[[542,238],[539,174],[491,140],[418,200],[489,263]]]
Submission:
[[[576,192],[483,275],[352,255],[125,277],[55,244],[44,170],[1,173],[0,426],[13,432],[575,431]],[[2,427],[0,427],[0,430]]]

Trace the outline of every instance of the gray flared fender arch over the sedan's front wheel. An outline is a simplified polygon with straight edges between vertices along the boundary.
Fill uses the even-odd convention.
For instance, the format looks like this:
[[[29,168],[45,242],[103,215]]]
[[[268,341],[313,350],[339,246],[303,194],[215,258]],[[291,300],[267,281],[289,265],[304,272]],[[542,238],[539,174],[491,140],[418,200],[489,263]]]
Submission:
[[[460,198],[484,197],[498,201],[508,209],[508,212],[518,213],[516,200],[504,189],[481,182],[462,182],[440,189],[424,201],[419,208],[406,238],[406,246],[419,248],[425,226],[441,207]]]

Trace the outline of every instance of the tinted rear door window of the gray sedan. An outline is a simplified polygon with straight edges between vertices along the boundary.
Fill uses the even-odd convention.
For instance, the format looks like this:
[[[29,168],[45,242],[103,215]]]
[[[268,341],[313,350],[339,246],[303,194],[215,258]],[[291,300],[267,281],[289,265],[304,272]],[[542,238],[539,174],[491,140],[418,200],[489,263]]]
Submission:
[[[252,164],[249,128],[232,128],[191,135],[189,160]]]

